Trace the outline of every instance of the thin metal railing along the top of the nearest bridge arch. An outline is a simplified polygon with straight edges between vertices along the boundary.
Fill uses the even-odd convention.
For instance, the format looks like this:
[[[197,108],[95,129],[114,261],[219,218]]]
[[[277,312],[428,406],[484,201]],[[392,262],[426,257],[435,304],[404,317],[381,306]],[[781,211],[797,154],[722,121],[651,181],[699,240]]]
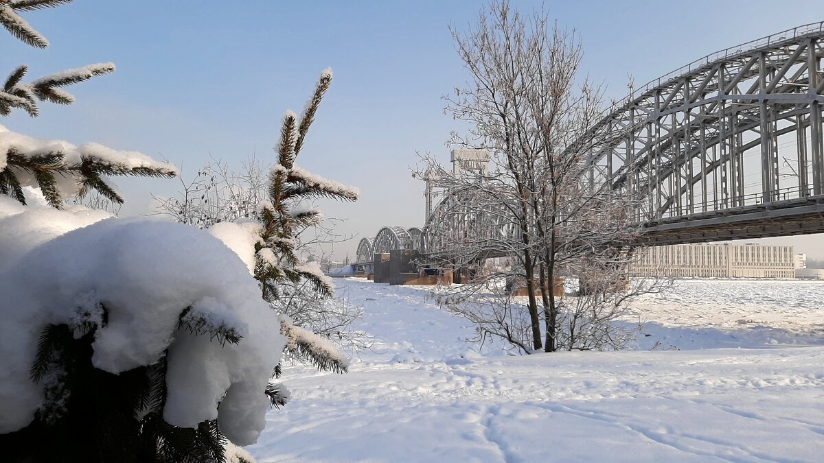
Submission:
[[[671,72],[667,72],[663,76],[647,82],[642,87],[635,88],[632,92],[630,92],[630,95],[625,96],[620,101],[616,101],[615,103],[613,103],[610,106],[610,109],[606,111],[606,114],[612,114],[621,106],[627,105],[631,101],[634,101],[637,96],[644,95],[644,93],[652,90],[653,88],[661,87],[663,83],[672,80],[672,78],[674,77],[679,77],[684,74],[688,74],[690,72],[703,68],[710,63],[714,63],[724,58],[732,58],[739,54],[745,54],[748,51],[751,51],[753,49],[760,49],[769,46],[770,44],[776,44],[779,42],[784,42],[785,40],[792,40],[799,36],[820,33],[822,31],[824,31],[824,21],[811,22],[810,24],[805,24],[804,26],[798,26],[794,27],[793,29],[783,30],[775,34],[761,37],[760,39],[750,40],[749,42],[738,44],[729,47],[728,49],[723,49],[715,53],[708,54],[702,58],[696,59],[692,63],[681,66],[681,68],[677,68]]]

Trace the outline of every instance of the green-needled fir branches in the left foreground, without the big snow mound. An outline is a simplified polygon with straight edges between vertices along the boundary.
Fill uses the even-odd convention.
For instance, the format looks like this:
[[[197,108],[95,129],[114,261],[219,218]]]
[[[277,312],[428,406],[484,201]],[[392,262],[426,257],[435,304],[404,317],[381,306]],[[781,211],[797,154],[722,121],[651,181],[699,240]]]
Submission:
[[[0,24],[27,44],[44,48],[48,41],[18,13],[70,1],[0,0]],[[12,72],[0,91],[0,114],[25,110],[36,116],[38,101],[69,104],[73,96],[62,87],[113,70],[114,65],[108,63],[91,65],[24,84],[21,82],[27,68],[21,66]],[[324,72],[302,118],[298,121],[296,115],[288,113],[283,121],[279,164],[270,175],[269,202],[260,208],[260,240],[255,245],[254,274],[268,301],[280,296],[280,283],[302,279],[313,283],[318,297],[328,297],[334,291],[320,269],[302,264],[295,251],[298,230],[322,219],[319,210],[302,208],[302,200],[358,197],[356,189],[311,175],[294,165],[330,81],[331,72]],[[61,208],[66,194],[82,197],[94,189],[113,203],[122,203],[105,176],[176,175],[173,166],[130,154],[125,157],[95,143],[74,147],[63,142],[43,142],[0,126],[0,193],[25,205],[23,187],[35,186],[47,203]],[[0,434],[4,457],[10,461],[222,462],[231,454],[232,461],[250,461],[248,454],[223,436],[218,420],[206,420],[194,428],[166,422],[168,348],[157,362],[119,374],[95,367],[92,346],[106,329],[109,314],[105,303],[96,302],[91,307],[77,307],[71,322],[33,327],[41,331],[30,380],[42,386],[43,400],[29,425]],[[216,322],[208,312],[192,306],[181,307],[176,320],[176,332],[182,334],[208,336],[221,345],[244,342],[242,330]],[[345,358],[328,341],[293,325],[288,317],[282,317],[280,324],[287,339],[286,349],[293,356],[315,362],[323,369],[346,370]],[[279,358],[279,353],[273,353],[273,358]],[[278,365],[273,376],[280,372]],[[260,393],[268,395],[275,406],[285,405],[288,400],[285,387],[274,382]]]

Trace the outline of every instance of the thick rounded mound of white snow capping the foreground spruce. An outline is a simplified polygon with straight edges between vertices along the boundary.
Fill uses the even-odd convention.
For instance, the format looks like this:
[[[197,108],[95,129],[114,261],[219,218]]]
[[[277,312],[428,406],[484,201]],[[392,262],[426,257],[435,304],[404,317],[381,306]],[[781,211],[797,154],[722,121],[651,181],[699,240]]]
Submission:
[[[232,442],[255,442],[285,339],[235,252],[177,223],[0,210],[0,433],[25,427],[40,406],[42,386],[29,369],[44,327],[102,324],[106,311],[92,344],[96,367],[124,372],[167,351],[164,419],[192,428],[217,418]],[[222,345],[178,329],[182,315],[189,326],[220,325],[243,339]]]

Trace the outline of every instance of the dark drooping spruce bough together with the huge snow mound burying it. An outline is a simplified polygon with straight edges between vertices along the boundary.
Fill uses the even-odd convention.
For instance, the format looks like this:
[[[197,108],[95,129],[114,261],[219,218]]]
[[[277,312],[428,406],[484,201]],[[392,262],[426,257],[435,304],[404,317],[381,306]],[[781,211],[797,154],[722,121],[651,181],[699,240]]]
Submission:
[[[7,242],[25,246],[30,241],[17,235],[42,222],[44,212],[10,204],[0,201],[0,217],[11,213],[14,219],[0,218],[8,225]],[[198,442],[222,442],[216,417],[233,441],[254,441],[263,427],[263,412],[256,410],[260,399],[266,401],[260,386],[284,338],[277,333],[277,316],[255,296],[257,284],[246,266],[191,227],[116,220],[90,225],[71,213],[50,212],[46,218],[59,227],[45,228],[47,235],[82,228],[32,247],[29,260],[0,265],[5,320],[0,331],[4,341],[14,341],[0,347],[10,375],[0,384],[0,433],[5,433],[0,439],[43,437],[39,425],[26,430],[33,417],[59,421],[67,414],[89,417],[105,410],[138,417],[118,426],[90,422],[77,428],[77,433],[118,436],[116,449],[106,447],[109,441],[96,444],[106,455],[157,439],[166,442],[156,449],[160,453],[190,451],[201,437]],[[77,268],[96,271],[77,273]],[[55,306],[55,298],[65,303]],[[181,317],[187,306],[190,311]],[[218,334],[215,341],[243,339],[222,346],[190,329]],[[38,344],[39,330],[44,336]],[[158,359],[164,363],[158,365]],[[86,387],[99,393],[85,394]],[[124,428],[129,426],[136,428]]]

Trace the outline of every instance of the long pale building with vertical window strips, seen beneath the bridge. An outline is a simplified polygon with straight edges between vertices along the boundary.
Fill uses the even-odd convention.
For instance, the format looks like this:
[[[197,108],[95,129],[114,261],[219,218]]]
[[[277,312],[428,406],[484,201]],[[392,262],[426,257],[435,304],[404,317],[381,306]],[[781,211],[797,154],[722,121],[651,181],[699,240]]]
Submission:
[[[793,246],[654,246],[636,255],[634,274],[672,277],[795,278]]]

